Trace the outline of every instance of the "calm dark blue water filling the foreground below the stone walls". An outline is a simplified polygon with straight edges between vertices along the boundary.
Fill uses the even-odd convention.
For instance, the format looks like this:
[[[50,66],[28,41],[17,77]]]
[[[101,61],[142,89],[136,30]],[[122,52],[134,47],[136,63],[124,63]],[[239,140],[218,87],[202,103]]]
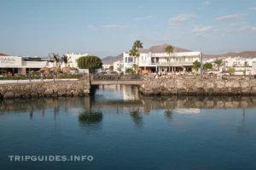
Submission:
[[[0,167],[256,169],[255,132],[256,98],[142,97],[137,87],[105,86],[92,97],[2,101]]]

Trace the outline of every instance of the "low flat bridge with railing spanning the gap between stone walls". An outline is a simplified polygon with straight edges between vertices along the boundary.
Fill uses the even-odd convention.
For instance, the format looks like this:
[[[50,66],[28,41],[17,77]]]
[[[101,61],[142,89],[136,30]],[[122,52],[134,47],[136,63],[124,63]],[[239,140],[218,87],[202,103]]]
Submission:
[[[141,85],[141,75],[98,75],[90,76],[90,85]]]

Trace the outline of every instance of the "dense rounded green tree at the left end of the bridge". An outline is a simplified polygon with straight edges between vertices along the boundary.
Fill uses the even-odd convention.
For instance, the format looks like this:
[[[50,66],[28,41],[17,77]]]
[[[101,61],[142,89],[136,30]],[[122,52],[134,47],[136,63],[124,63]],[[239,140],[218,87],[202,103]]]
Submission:
[[[78,66],[80,69],[89,69],[90,73],[94,73],[96,69],[102,68],[102,59],[94,55],[80,57]]]

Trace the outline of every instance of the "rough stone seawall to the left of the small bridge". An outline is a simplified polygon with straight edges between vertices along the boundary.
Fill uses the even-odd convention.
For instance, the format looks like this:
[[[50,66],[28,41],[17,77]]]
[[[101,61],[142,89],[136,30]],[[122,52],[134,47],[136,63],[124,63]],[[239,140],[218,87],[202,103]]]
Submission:
[[[38,82],[0,86],[0,98],[39,98],[90,95],[90,81]]]

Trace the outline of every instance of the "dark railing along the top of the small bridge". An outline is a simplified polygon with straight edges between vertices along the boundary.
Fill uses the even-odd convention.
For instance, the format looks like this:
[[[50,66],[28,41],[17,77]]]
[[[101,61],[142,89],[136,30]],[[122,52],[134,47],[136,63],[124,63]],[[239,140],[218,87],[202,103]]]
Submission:
[[[119,82],[119,81],[142,81],[141,75],[101,75],[93,74],[90,76],[90,81],[94,82]]]

